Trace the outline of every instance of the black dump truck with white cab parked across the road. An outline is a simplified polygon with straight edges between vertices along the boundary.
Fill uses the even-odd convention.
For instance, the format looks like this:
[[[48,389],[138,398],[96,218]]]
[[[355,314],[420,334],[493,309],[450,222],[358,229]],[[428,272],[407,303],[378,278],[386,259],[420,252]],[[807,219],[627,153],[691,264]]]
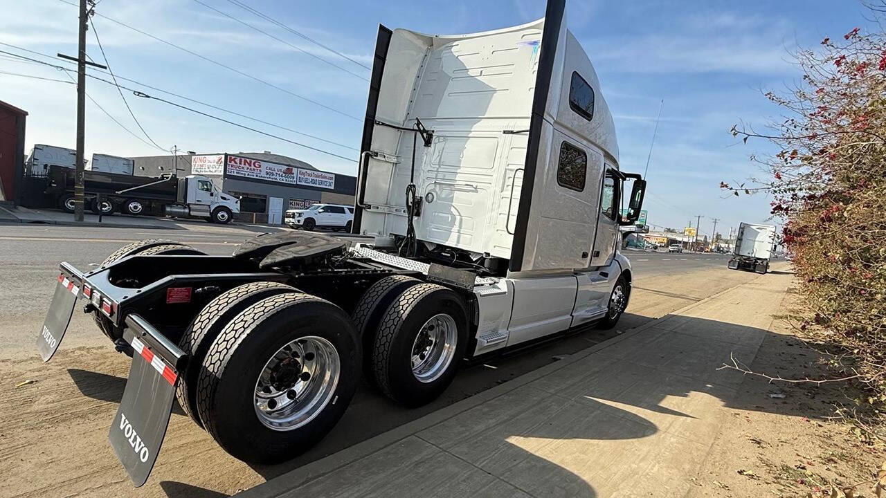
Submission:
[[[96,214],[183,216],[227,223],[240,212],[240,200],[220,191],[206,176],[153,178],[86,170],[83,184],[85,206]],[[49,166],[43,193],[63,211],[74,213],[74,169]]]

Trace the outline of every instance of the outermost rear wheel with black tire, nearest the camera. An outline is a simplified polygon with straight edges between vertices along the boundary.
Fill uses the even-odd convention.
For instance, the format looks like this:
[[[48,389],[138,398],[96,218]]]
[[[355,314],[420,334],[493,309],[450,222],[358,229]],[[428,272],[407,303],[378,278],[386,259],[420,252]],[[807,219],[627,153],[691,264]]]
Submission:
[[[310,359],[296,354],[312,344],[317,346]],[[229,322],[206,352],[196,385],[198,416],[206,432],[240,460],[291,459],[323,439],[345,413],[360,377],[360,358],[354,325],[340,307],[302,293],[260,300]],[[280,370],[266,376],[275,361]],[[315,384],[315,403],[302,404],[299,385],[313,395],[311,382],[322,383]],[[271,407],[262,387],[280,389],[280,405]],[[299,407],[308,411],[299,416]],[[296,411],[287,415],[287,409]]]

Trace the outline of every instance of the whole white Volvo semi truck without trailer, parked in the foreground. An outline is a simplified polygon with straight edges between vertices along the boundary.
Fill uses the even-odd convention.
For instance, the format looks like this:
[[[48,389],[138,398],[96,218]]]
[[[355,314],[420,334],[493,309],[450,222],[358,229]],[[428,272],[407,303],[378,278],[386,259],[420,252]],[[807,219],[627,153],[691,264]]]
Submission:
[[[361,376],[418,406],[467,359],[625,311],[618,228],[645,182],[618,168],[563,0],[485,33],[379,27],[365,123],[353,232],[372,243],[296,230],[211,256],[146,240],[86,273],[60,264],[37,346],[48,361],[82,298],[132,355],[109,440],[136,486],[176,398],[230,455],[281,462],[332,430]]]

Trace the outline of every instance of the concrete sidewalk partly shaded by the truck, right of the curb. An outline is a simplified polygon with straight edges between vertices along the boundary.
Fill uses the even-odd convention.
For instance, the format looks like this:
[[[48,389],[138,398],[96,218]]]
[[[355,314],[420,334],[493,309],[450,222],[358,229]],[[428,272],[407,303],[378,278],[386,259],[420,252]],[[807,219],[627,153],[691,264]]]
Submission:
[[[753,362],[786,268],[237,496],[686,494],[742,384],[717,369]]]

